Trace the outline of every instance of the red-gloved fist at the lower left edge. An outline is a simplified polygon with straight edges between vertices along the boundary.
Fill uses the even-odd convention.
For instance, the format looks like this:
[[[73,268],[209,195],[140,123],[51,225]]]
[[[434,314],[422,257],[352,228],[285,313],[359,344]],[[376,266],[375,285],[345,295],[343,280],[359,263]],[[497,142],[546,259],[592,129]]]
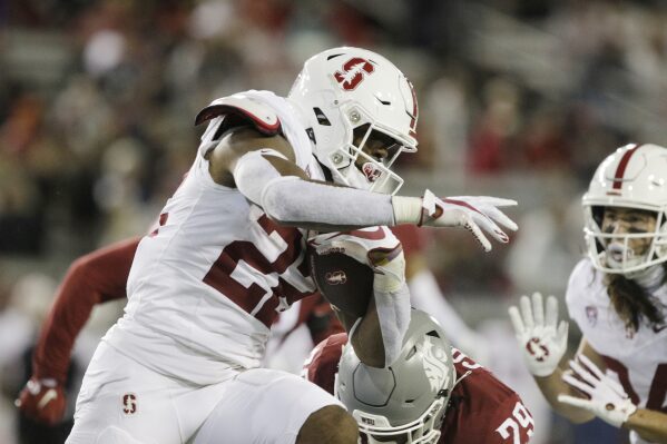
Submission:
[[[62,420],[67,406],[65,389],[55,379],[30,378],[16,406],[28,417],[55,425]]]

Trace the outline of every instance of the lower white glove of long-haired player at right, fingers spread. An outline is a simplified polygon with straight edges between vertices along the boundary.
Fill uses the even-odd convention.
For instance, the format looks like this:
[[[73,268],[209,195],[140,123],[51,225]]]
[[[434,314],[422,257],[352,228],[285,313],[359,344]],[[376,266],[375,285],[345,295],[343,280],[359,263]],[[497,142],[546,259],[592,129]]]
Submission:
[[[562,381],[583,392],[590,398],[558,395],[558,401],[575,407],[585,408],[600,420],[620,427],[637,411],[637,406],[622,386],[602,373],[588,357],[578,355],[583,364],[570,361],[571,372],[563,373]]]

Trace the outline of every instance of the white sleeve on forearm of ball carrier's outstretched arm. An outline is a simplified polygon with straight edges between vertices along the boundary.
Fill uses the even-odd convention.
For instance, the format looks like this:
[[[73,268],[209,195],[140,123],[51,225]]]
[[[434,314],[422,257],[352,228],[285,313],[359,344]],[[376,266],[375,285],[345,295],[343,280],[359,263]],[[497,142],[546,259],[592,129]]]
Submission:
[[[273,219],[293,225],[370,227],[393,221],[391,196],[295,177],[274,178],[264,189],[262,207]]]

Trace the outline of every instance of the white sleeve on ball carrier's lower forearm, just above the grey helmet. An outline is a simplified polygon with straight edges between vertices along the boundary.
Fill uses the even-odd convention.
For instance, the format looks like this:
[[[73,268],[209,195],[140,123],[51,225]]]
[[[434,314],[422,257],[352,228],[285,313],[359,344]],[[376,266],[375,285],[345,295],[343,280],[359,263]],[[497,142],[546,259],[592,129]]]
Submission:
[[[384,345],[384,366],[388,367],[401,354],[403,338],[410,325],[410,292],[403,283],[395,292],[374,288],[373,297]]]

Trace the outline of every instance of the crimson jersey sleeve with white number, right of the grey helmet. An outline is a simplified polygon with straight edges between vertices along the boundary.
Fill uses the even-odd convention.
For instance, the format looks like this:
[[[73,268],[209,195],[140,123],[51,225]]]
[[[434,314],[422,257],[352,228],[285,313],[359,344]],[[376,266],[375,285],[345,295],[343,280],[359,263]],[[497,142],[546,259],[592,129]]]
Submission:
[[[528,443],[534,422],[519,395],[470,357],[453,348],[457,375],[439,443]]]

